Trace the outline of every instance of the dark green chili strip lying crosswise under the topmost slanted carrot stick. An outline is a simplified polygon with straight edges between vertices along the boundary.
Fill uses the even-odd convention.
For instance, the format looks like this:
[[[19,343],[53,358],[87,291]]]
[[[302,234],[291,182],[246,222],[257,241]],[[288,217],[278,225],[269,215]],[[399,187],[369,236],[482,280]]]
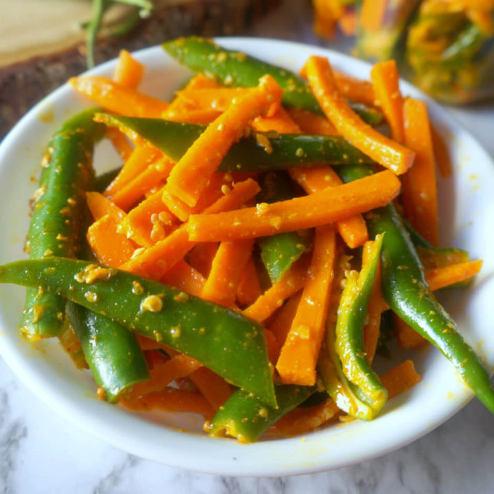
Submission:
[[[178,161],[194,141],[204,132],[205,126],[183,124],[163,119],[120,117],[99,114],[98,119],[107,126],[117,127],[133,137],[139,134],[155,148]],[[315,165],[351,165],[373,163],[371,158],[354,148],[341,136],[311,134],[277,134],[258,132],[266,137],[269,146],[259,145],[256,133],[235,143],[218,172],[270,172],[277,169],[311,167]],[[263,139],[265,142],[266,139]]]

